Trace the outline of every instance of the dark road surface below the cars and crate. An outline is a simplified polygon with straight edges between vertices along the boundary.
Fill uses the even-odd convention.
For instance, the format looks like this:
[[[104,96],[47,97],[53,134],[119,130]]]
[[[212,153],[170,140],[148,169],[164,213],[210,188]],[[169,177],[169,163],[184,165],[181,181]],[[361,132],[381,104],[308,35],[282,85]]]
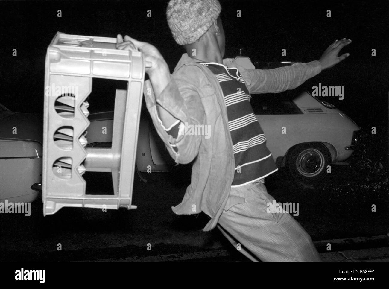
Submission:
[[[348,167],[339,166],[333,168],[333,172],[338,177],[320,186],[306,186],[280,170],[266,179],[266,186],[277,201],[300,203],[296,220],[316,242],[385,236],[389,219],[387,192],[358,180]],[[91,208],[62,208],[54,215],[43,217],[42,203],[35,201],[30,217],[2,214],[1,261],[135,261],[137,258],[141,258],[140,261],[147,258],[154,261],[247,261],[219,231],[202,231],[208,221],[206,215],[173,214],[171,206],[181,201],[190,182],[187,170],[180,168],[175,172],[144,176],[147,183],[135,180],[133,204],[138,206],[136,210],[121,208],[102,212]],[[86,179],[89,193],[107,191],[109,187],[109,178],[104,174],[88,176],[87,173]],[[376,212],[371,212],[372,203],[377,206]],[[349,247],[335,245],[333,253],[326,253],[325,246],[320,245],[324,250],[319,252],[330,259],[342,255],[336,253],[339,250],[347,256],[348,249],[387,246],[382,240],[373,241],[370,247],[353,247],[352,243]],[[147,251],[148,245],[151,251]]]

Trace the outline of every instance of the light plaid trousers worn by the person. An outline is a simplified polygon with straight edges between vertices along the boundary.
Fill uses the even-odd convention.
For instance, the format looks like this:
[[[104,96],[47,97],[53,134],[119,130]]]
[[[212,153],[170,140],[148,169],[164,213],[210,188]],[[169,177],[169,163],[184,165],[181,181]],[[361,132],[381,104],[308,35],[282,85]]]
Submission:
[[[260,181],[231,187],[217,227],[254,262],[320,262],[312,239],[289,213],[266,212],[273,200]]]

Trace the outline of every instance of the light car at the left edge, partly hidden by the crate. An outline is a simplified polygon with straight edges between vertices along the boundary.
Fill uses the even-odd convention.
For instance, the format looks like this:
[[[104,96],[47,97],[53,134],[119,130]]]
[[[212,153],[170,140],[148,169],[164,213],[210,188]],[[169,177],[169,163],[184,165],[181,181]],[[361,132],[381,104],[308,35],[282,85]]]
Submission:
[[[32,202],[42,181],[42,116],[0,104],[0,201]]]

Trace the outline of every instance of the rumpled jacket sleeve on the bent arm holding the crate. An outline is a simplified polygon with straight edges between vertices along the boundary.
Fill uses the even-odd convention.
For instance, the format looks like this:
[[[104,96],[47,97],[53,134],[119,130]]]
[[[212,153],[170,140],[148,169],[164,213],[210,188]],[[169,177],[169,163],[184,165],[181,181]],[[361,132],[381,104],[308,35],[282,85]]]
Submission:
[[[159,137],[165,143],[170,156],[177,164],[186,164],[197,156],[202,136],[187,135],[184,128],[185,126],[195,127],[195,125],[203,124],[205,114],[197,89],[199,83],[196,83],[199,77],[195,76],[199,74],[199,68],[189,66],[181,70],[172,75],[171,81],[158,97],[154,95],[151,82],[149,80],[145,81],[144,96],[152,122]],[[177,137],[170,135],[169,129],[163,126],[158,117],[157,105],[161,105],[180,122]]]

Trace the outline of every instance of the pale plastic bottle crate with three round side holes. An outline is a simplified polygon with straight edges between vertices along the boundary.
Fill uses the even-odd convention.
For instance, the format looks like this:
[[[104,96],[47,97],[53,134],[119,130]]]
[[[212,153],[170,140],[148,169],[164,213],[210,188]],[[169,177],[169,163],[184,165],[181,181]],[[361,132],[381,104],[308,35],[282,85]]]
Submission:
[[[144,55],[116,39],[58,32],[47,48],[44,98],[43,214],[62,207],[131,205],[145,74]],[[86,148],[92,78],[128,82],[116,90],[112,148]],[[93,100],[91,100],[93,101]],[[114,195],[85,194],[85,171],[112,172]]]

